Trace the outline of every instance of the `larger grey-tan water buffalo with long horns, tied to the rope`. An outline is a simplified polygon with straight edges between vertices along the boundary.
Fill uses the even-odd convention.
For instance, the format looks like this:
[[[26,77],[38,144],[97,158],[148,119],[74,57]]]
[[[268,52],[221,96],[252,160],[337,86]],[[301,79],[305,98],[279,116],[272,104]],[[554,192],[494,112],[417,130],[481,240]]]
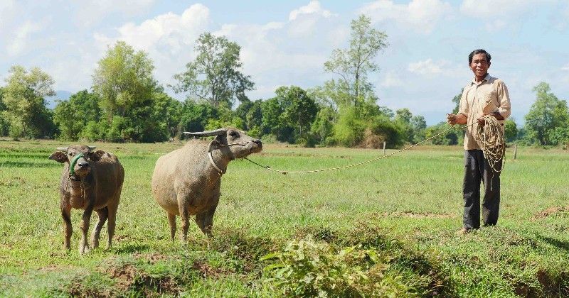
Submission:
[[[260,140],[235,128],[188,134],[216,138],[211,142],[189,140],[183,148],[161,156],[152,174],[152,194],[168,214],[172,240],[176,234],[176,215],[181,217],[182,241],[186,241],[188,216],[191,215],[196,215],[201,231],[211,236],[221,175],[228,163],[262,150]]]

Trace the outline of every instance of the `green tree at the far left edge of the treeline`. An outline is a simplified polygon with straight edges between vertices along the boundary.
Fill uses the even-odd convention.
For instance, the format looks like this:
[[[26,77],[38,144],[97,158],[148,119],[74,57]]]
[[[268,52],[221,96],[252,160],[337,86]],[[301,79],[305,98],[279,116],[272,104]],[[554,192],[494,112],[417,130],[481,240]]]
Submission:
[[[38,67],[27,71],[20,65],[11,67],[2,101],[3,118],[9,123],[14,138],[50,137],[55,125],[46,108],[45,96],[53,96],[53,79]]]

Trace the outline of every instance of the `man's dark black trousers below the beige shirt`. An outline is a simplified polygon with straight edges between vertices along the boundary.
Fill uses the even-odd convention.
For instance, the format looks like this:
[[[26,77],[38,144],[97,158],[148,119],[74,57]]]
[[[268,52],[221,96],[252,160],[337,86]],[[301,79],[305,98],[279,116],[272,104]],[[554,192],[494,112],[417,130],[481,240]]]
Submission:
[[[501,161],[499,162],[501,166]],[[484,183],[482,221],[484,226],[498,223],[500,209],[500,173],[494,172],[482,150],[464,151],[464,228],[480,228],[480,182]]]

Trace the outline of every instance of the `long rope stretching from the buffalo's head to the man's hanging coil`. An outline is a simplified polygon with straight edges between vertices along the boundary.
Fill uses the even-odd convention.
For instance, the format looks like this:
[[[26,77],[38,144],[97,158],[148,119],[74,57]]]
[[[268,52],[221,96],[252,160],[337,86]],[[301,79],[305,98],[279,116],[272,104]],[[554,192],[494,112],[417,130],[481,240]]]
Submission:
[[[489,118],[491,118],[493,120],[491,120]],[[496,120],[496,118],[494,118],[494,116],[486,115],[486,116],[484,116],[484,119],[486,120],[486,124],[482,127],[479,126],[479,129],[477,131],[477,136],[479,136],[479,137],[482,136],[482,142],[483,142],[483,145],[481,145],[482,151],[484,152],[485,157],[489,156],[489,158],[491,158],[491,160],[492,160],[491,167],[492,167],[492,170],[494,170],[494,168],[497,165],[497,163],[499,162],[499,160],[501,160],[503,158],[505,150],[506,150],[506,147],[504,145],[504,132],[500,128],[501,124]],[[315,172],[325,172],[325,171],[331,171],[331,170],[341,170],[341,169],[346,169],[349,167],[356,167],[358,165],[365,165],[366,163],[374,162],[376,160],[381,160],[382,158],[388,158],[391,155],[398,154],[400,152],[403,152],[405,150],[413,148],[417,145],[425,143],[425,142],[427,142],[427,140],[432,140],[433,138],[436,138],[437,136],[440,136],[443,133],[446,133],[447,131],[450,131],[454,128],[464,129],[464,128],[468,128],[470,126],[473,126],[477,123],[478,123],[477,121],[474,121],[474,123],[469,124],[467,126],[450,126],[449,128],[445,129],[444,131],[441,131],[440,133],[437,133],[434,136],[430,136],[429,138],[425,138],[425,140],[422,140],[419,143],[410,145],[410,146],[405,147],[403,149],[397,150],[393,153],[389,153],[388,155],[383,155],[383,156],[380,156],[378,158],[366,160],[364,162],[354,163],[352,165],[344,165],[342,167],[330,167],[327,169],[306,170],[306,171],[285,171],[285,170],[273,169],[272,167],[270,167],[268,165],[260,165],[259,163],[254,162],[254,161],[250,160],[249,158],[244,158],[244,159],[248,160],[249,162],[252,162],[255,165],[258,165],[259,167],[264,167],[267,170],[274,171],[274,172],[280,172],[282,175],[287,175],[288,173],[299,174],[299,173],[315,173]],[[486,126],[488,126],[488,128],[486,128]],[[481,129],[482,129],[482,131],[480,131]],[[486,136],[486,133],[488,133],[488,136]],[[501,145],[497,144],[498,142],[501,142]],[[497,149],[499,149],[499,150],[497,150]],[[500,171],[503,168],[504,168],[504,164],[502,164]],[[496,170],[494,170],[494,171],[496,171]]]

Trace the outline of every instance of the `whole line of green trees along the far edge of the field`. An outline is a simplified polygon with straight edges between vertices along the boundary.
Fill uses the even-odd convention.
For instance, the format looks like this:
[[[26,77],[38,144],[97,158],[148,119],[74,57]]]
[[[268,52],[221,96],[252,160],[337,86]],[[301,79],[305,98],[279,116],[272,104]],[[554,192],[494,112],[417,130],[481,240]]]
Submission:
[[[98,62],[90,89],[59,101],[53,110],[46,108],[45,100],[55,94],[53,79],[39,68],[16,65],[0,87],[0,136],[151,143],[181,138],[184,131],[233,126],[263,140],[311,147],[378,148],[385,141],[395,148],[418,143],[447,124],[427,127],[425,118],[409,109],[391,111],[377,104],[368,75],[378,70],[373,60],[388,46],[386,40],[384,32],[371,27],[369,18],[360,16],[351,22],[349,47],[334,50],[324,63],[334,79],[311,89],[278,87],[275,97],[255,101],[245,94],[255,84],[240,71],[240,46],[211,33],[200,35],[196,59],[188,62],[185,72],[174,75],[177,84],[166,86],[186,94],[184,102],[171,98],[154,79],[147,53],[122,41]],[[526,116],[526,126],[506,121],[507,141],[568,143],[566,102],[551,94],[546,83],[534,91],[537,100]],[[458,104],[459,97],[452,101]],[[452,130],[430,143],[461,142],[462,131]]]

